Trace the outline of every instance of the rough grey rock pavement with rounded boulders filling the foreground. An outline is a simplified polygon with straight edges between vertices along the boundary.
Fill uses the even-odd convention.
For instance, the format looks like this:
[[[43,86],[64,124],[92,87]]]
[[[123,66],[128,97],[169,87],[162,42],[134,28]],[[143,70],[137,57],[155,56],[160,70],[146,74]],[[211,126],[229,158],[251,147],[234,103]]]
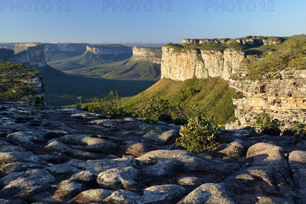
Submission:
[[[192,154],[178,131],[2,103],[0,203],[306,203],[306,141],[223,130],[232,143]]]

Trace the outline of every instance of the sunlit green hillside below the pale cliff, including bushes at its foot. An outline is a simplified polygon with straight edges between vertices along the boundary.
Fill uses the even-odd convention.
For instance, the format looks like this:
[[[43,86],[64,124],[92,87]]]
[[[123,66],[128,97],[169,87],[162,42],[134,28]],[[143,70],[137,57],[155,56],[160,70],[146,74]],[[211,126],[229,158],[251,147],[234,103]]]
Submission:
[[[169,112],[171,112],[172,122],[177,124],[186,122],[180,109],[184,110],[185,115],[197,116],[194,111],[196,105],[202,107],[200,111],[203,114],[212,115],[214,121],[225,124],[235,121],[234,110],[236,106],[233,105],[233,97],[237,97],[236,90],[228,87],[228,83],[220,78],[190,79],[184,82],[161,79],[149,89],[135,96],[123,98],[123,104],[126,112],[135,113],[139,108],[144,110],[144,113],[145,110],[149,112],[150,108],[158,109],[159,112],[156,111],[152,115],[148,113],[146,116],[141,116],[152,120],[161,119],[163,114],[164,120],[170,120]],[[148,103],[157,104],[153,106]],[[143,108],[141,109],[141,107]],[[171,110],[169,111],[169,109]]]

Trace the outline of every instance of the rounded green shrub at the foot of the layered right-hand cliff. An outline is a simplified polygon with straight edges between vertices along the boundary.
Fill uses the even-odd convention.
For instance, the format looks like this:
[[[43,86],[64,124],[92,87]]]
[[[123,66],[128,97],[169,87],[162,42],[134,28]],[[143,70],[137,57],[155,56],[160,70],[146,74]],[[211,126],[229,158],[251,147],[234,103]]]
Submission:
[[[278,119],[271,119],[268,113],[258,113],[255,116],[255,121],[253,123],[257,133],[264,133],[267,135],[277,136],[281,134],[280,127],[283,124]]]

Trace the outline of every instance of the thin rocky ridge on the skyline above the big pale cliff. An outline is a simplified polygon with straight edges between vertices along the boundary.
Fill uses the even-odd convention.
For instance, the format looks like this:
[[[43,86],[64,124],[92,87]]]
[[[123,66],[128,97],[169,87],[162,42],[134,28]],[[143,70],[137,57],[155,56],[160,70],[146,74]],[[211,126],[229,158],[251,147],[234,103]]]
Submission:
[[[238,42],[241,45],[267,45],[267,44],[280,44],[284,42],[287,37],[263,37],[263,36],[247,36],[244,38],[222,38],[222,39],[189,39],[182,40],[182,44],[205,44],[205,43],[233,43]]]

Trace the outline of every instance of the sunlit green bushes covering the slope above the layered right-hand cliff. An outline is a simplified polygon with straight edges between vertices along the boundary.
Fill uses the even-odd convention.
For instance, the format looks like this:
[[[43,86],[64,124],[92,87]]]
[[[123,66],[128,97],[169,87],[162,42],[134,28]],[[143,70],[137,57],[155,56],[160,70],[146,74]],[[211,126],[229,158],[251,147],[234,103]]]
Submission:
[[[261,55],[248,56],[243,62],[243,66],[248,68],[250,79],[259,80],[263,74],[290,67],[306,69],[306,35],[295,35],[282,44],[260,49],[257,50],[262,52]]]

